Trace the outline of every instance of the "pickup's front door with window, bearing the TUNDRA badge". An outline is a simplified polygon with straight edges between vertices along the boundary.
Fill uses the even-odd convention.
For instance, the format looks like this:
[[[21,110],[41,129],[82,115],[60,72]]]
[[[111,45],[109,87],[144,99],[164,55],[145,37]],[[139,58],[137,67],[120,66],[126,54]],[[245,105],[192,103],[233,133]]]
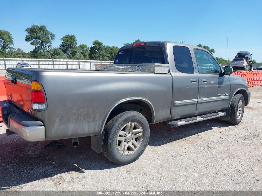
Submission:
[[[196,114],[226,109],[230,93],[229,76],[222,73],[211,54],[198,48],[194,48],[193,52],[199,80]]]

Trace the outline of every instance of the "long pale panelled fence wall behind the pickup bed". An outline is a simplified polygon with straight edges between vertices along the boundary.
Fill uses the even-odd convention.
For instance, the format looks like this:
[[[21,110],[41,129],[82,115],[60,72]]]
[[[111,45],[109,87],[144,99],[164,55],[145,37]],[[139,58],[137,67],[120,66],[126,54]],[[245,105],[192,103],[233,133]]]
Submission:
[[[113,64],[113,61],[96,60],[0,58],[0,69],[14,68],[20,62],[30,64],[32,68],[49,69],[95,69],[95,63]]]

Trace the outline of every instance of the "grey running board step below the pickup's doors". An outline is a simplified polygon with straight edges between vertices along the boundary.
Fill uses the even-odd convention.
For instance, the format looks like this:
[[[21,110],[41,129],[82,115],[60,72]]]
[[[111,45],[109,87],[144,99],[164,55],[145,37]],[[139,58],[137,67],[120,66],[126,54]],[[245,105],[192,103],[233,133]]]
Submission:
[[[184,124],[195,123],[195,122],[208,120],[208,119],[211,119],[211,118],[217,118],[217,117],[221,117],[221,116],[225,116],[225,115],[226,115],[225,112],[216,112],[216,113],[212,113],[212,114],[206,114],[206,115],[202,115],[202,116],[196,116],[196,117],[192,117],[192,118],[185,118],[185,119],[171,121],[171,122],[165,123],[165,125],[167,125],[169,127],[178,127],[178,126],[181,126],[181,125],[184,125]]]

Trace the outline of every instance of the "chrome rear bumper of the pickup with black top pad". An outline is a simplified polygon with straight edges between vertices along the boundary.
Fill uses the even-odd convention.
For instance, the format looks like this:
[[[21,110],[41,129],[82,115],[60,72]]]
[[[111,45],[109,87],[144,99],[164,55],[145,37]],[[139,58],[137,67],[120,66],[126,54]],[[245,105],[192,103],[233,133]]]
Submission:
[[[0,102],[0,112],[7,129],[30,142],[43,141],[46,138],[42,122],[17,108],[8,101]]]

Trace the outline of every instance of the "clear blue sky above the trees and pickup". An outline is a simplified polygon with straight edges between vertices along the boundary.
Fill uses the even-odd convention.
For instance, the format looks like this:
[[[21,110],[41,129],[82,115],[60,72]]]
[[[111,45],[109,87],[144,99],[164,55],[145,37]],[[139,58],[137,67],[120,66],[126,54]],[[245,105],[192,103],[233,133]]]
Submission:
[[[185,40],[207,45],[214,56],[229,60],[238,51],[249,51],[262,62],[262,1],[2,1],[0,29],[9,31],[25,52],[24,29],[32,24],[47,26],[56,35],[52,46],[65,34],[75,34],[78,44],[94,40],[121,47],[135,39],[143,41]],[[6,9],[3,9],[6,8]]]

